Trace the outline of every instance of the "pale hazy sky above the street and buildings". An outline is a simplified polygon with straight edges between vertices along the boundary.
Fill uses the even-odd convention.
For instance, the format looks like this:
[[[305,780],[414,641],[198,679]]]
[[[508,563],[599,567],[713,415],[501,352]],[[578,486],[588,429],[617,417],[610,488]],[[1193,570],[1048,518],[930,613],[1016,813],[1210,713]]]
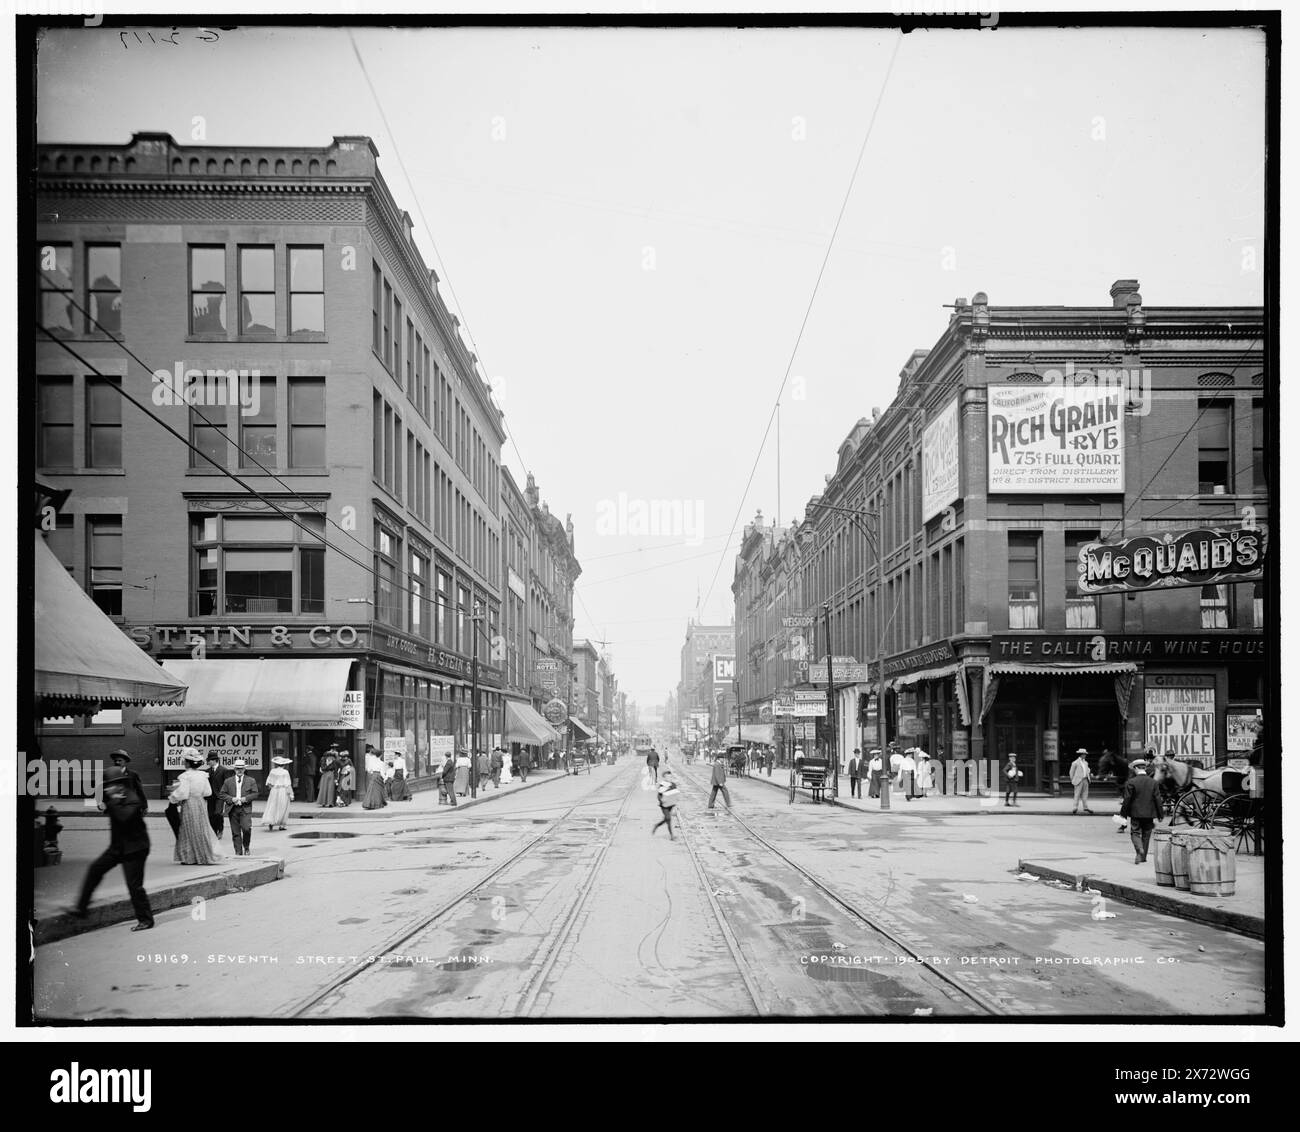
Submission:
[[[576,633],[642,706],[676,685],[689,617],[732,619],[744,525],[803,515],[954,298],[1109,307],[1138,278],[1148,305],[1264,302],[1249,30],[181,39],[51,32],[38,140],[373,138],[506,412],[504,463],[573,517]]]

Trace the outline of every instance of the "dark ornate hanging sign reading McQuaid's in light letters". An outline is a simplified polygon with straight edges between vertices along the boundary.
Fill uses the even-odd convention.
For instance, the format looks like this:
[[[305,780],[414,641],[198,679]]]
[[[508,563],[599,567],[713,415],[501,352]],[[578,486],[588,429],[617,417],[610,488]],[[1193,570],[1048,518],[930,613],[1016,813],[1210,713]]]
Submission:
[[[1115,594],[1209,586],[1264,577],[1269,533],[1262,526],[1200,528],[1164,537],[1089,542],[1079,550],[1079,593]]]

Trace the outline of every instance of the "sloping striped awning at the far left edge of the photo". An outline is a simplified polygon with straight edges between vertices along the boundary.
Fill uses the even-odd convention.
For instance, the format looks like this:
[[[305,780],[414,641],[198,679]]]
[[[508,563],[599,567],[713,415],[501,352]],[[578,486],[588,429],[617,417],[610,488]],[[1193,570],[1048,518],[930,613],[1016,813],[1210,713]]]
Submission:
[[[186,681],[165,672],[96,606],[36,538],[35,636],[43,716],[103,703],[185,703]]]

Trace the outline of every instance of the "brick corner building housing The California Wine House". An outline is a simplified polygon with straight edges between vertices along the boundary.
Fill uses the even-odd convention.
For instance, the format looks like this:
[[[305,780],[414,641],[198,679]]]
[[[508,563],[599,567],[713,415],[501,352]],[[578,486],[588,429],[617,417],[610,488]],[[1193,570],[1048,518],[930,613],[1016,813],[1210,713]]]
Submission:
[[[1015,751],[1030,789],[1052,789],[1079,747],[1222,762],[1262,716],[1266,585],[1089,594],[1079,552],[1266,524],[1264,334],[1258,308],[1147,307],[1123,279],[1110,307],[958,300],[806,517],[737,568],[760,581],[737,590],[738,620],[780,616],[798,578],[818,659],[884,659],[887,738],[942,758]],[[841,760],[875,740],[870,676],[840,689]],[[763,669],[746,699],[780,677]],[[1195,707],[1161,711],[1170,697]]]

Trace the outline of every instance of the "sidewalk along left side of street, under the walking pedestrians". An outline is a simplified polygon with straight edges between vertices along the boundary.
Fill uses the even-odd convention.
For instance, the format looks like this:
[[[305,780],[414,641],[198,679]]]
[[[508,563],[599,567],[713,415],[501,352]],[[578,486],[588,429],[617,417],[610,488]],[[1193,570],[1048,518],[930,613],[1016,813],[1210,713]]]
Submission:
[[[603,767],[595,767],[593,773],[598,775],[602,769]],[[499,789],[493,789],[489,782],[486,791],[480,790],[477,798],[462,797],[456,806],[439,806],[437,789],[419,790],[412,794],[410,802],[390,802],[382,810],[363,810],[360,802],[329,810],[315,802],[294,802],[290,804],[287,824],[292,828],[298,823],[313,820],[386,821],[408,819],[412,815],[428,817],[434,812],[459,814],[467,807],[480,806],[494,798],[506,798],[564,777],[564,771],[530,771],[526,782],[515,778]],[[64,854],[60,864],[32,869],[32,914],[36,945],[52,944],[110,924],[134,923],[135,914],[131,911],[126,880],[121,868],[114,868],[100,881],[91,899],[90,915],[86,919],[79,920],[70,915],[70,908],[77,903],[86,869],[108,847],[108,819],[94,807],[83,807],[68,798],[40,798],[36,802],[36,812],[44,817],[46,810],[51,806],[62,819],[92,820],[78,824],[75,828],[65,828],[60,833],[58,846]],[[165,807],[164,801],[150,799],[147,816],[153,851],[146,864],[144,889],[150,894],[150,906],[155,915],[168,908],[190,905],[196,899],[209,901],[226,893],[247,892],[257,885],[283,877],[283,858],[257,855],[263,802],[256,803],[254,812],[252,855],[234,856],[228,833],[221,842],[222,853],[228,854],[226,859],[209,866],[177,864],[172,860],[173,837],[162,816]],[[140,938],[147,940],[148,937],[142,936]]]

